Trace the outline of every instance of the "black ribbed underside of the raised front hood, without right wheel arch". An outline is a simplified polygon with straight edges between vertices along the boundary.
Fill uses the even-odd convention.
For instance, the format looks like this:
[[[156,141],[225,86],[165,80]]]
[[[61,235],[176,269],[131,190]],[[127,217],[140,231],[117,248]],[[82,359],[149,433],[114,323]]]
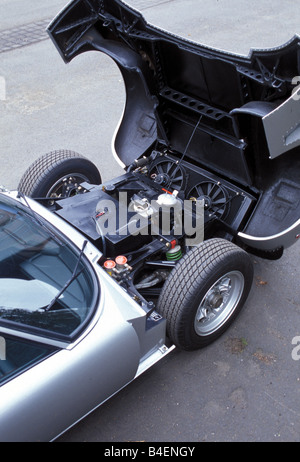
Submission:
[[[192,161],[256,184],[270,157],[256,121],[290,97],[299,36],[239,56],[158,29],[121,0],[74,0],[48,31],[65,62],[99,50],[119,66],[127,97],[114,147],[124,167],[159,141],[181,153],[188,145]]]

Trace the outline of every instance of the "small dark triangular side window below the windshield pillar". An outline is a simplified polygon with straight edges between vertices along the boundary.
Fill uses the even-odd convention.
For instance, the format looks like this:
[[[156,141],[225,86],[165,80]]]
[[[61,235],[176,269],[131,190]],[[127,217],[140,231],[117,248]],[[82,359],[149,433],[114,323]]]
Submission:
[[[10,337],[0,332],[0,386],[54,351],[48,345]]]

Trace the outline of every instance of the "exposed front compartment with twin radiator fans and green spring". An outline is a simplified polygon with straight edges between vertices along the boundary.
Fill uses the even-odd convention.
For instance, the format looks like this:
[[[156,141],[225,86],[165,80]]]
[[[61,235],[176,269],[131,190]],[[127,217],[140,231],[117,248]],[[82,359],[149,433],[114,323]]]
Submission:
[[[197,231],[201,241],[234,240],[256,203],[254,195],[167,149],[151,151],[107,183],[82,184],[82,191],[57,201],[55,213],[101,250],[103,268],[147,306]]]

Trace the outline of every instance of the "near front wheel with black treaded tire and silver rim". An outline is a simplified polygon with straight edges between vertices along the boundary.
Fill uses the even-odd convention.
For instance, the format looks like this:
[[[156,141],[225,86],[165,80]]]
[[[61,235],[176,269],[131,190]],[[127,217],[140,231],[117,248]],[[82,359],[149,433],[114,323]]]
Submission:
[[[235,244],[210,239],[193,248],[177,263],[158,299],[169,339],[183,350],[216,340],[242,309],[252,282],[251,258]]]

